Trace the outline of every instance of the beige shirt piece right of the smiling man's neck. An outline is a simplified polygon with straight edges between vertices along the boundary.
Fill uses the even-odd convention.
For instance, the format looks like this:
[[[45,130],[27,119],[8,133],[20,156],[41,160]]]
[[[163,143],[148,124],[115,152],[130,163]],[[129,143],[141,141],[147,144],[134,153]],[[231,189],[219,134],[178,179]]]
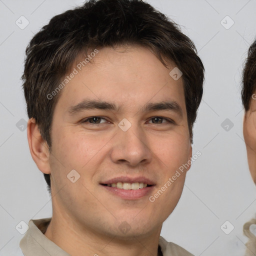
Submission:
[[[163,256],[193,256],[193,254],[176,243],[167,242],[162,236],[159,237],[159,245],[161,247]]]

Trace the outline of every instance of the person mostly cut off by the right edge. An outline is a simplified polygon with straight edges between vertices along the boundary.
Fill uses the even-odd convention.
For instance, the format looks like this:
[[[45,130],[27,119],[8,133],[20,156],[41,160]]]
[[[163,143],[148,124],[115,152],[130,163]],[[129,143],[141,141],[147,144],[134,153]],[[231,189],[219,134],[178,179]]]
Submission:
[[[244,106],[243,136],[251,177],[256,184],[256,40],[250,45],[243,69],[242,104]],[[256,217],[245,223],[243,232],[248,236],[246,255],[256,255]]]

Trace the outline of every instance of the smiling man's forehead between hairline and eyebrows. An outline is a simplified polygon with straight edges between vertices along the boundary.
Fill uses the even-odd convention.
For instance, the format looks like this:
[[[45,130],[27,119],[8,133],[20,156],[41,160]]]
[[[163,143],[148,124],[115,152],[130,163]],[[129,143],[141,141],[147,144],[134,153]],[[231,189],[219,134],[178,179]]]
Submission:
[[[84,97],[115,101],[130,109],[135,108],[134,103],[145,104],[150,100],[172,100],[185,107],[182,78],[174,80],[169,75],[175,65],[170,63],[166,68],[149,49],[105,47],[88,55],[90,62],[81,57],[71,68],[76,74],[61,91],[59,101],[63,108]]]

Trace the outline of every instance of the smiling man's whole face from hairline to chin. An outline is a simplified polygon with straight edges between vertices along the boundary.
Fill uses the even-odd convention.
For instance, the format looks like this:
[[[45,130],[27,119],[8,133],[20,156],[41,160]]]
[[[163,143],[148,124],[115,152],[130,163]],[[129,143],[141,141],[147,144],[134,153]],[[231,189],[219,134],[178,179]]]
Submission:
[[[62,89],[51,129],[52,204],[79,230],[160,232],[176,206],[185,171],[166,182],[191,144],[173,67],[145,48],[103,48]]]

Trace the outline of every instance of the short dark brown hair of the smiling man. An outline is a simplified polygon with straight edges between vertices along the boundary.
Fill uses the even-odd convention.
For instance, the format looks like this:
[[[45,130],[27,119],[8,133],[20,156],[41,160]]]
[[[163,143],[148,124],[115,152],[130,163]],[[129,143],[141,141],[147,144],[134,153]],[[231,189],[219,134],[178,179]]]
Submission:
[[[202,97],[204,67],[193,42],[177,24],[142,0],[89,0],[50,19],[26,48],[23,89],[28,117],[34,117],[42,138],[51,147],[52,114],[60,96],[51,93],[79,54],[93,48],[140,45],[182,72],[187,121],[192,127]],[[50,192],[49,174],[44,174]]]

